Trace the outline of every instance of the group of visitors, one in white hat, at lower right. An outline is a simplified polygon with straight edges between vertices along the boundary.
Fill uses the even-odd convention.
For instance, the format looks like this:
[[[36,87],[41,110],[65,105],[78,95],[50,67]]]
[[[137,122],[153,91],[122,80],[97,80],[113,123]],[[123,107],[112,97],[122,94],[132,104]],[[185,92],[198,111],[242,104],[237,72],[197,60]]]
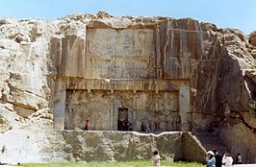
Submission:
[[[213,149],[206,153],[206,163],[207,167],[231,167],[233,165],[233,157],[228,153],[221,156],[216,149]],[[238,154],[236,156],[236,163],[243,163],[242,155]]]

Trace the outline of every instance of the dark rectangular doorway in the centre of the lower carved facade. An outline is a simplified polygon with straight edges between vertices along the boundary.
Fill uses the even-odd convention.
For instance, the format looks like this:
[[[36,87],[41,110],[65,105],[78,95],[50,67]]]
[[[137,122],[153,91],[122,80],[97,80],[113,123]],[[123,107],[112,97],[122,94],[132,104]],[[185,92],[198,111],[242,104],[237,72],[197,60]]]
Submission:
[[[118,107],[118,122],[117,122],[118,131],[128,131],[128,108],[127,107]]]

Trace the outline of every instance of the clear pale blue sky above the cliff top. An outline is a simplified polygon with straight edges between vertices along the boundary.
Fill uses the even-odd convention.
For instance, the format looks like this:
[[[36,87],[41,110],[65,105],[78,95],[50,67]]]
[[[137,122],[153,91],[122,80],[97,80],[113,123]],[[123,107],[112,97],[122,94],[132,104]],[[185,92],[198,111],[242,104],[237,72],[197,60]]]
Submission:
[[[0,0],[0,17],[55,19],[72,13],[191,17],[218,28],[256,31],[256,0]]]

